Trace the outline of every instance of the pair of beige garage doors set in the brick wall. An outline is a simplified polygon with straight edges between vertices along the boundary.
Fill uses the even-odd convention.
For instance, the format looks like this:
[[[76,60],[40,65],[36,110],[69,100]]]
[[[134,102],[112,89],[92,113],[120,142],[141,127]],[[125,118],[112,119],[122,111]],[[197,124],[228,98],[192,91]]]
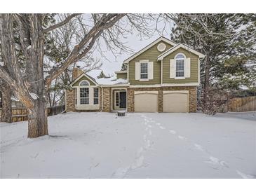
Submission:
[[[135,91],[135,112],[159,112],[159,91]],[[186,113],[189,111],[188,90],[163,91],[163,112]]]

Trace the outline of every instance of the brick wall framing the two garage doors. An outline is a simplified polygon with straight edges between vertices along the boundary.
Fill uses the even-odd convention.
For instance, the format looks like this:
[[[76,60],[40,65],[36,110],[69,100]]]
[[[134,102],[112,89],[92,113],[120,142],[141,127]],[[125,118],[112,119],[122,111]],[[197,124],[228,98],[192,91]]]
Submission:
[[[164,90],[189,90],[189,112],[196,112],[196,87],[160,87],[160,88],[128,88],[128,112],[134,112],[135,91],[159,91],[159,112],[163,112]]]

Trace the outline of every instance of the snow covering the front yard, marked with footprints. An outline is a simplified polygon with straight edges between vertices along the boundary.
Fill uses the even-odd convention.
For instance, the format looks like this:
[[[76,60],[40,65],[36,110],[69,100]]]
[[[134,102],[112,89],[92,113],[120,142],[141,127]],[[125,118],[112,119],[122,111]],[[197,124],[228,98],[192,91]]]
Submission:
[[[49,135],[0,123],[1,178],[255,178],[256,111],[67,113]]]

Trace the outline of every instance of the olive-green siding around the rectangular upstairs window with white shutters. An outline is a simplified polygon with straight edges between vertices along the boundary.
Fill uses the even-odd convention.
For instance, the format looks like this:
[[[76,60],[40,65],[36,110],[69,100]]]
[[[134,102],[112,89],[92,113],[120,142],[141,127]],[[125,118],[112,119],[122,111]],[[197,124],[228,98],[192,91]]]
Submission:
[[[165,43],[166,44],[166,50],[173,47],[170,44],[160,41],[159,43]],[[143,53],[135,57],[133,60],[130,60],[128,64],[128,72],[129,72],[129,83],[131,85],[155,85],[155,84],[161,84],[161,61],[157,61],[157,57],[161,55],[159,50],[157,50],[157,46],[159,43],[156,43],[156,45],[152,46],[148,50],[145,50]],[[135,80],[135,62],[140,62],[140,60],[149,60],[149,62],[154,62],[154,78],[149,81],[139,81]]]

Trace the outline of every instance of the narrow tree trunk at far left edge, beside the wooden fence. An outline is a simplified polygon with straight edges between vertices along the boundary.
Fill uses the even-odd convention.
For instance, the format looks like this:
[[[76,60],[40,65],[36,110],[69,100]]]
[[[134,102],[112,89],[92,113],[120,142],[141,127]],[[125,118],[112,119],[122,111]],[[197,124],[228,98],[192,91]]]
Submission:
[[[2,83],[2,111],[1,122],[11,123],[11,88],[5,82]]]

